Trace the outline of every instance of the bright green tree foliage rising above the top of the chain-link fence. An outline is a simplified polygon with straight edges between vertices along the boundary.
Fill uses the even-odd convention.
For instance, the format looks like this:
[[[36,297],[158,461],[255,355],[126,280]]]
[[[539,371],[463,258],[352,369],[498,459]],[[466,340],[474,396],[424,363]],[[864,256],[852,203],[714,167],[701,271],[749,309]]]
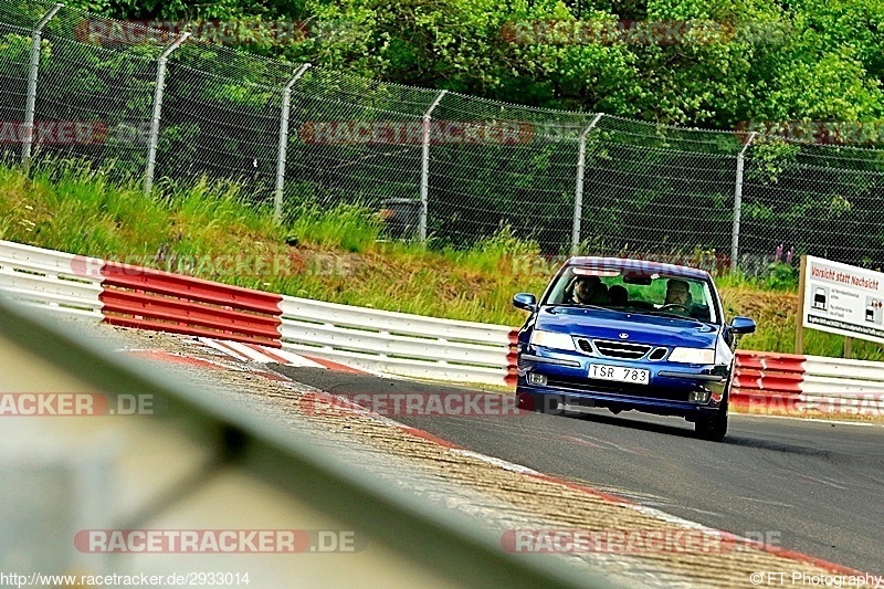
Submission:
[[[78,0],[128,19],[301,21],[306,39],[246,49],[293,63],[507,102],[733,128],[740,120],[884,115],[880,0],[596,3],[504,0]],[[675,42],[598,42],[567,28],[513,42],[515,22],[691,23]],[[573,30],[573,29],[571,29]],[[537,32],[537,30],[534,30]]]

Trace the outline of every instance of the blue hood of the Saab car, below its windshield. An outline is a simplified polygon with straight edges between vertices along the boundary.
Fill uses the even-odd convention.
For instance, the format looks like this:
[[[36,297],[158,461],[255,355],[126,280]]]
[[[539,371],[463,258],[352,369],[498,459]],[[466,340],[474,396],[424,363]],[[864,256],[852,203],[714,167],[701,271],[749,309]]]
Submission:
[[[693,348],[714,347],[718,335],[718,326],[692,319],[556,305],[540,308],[534,328],[593,339]],[[623,339],[621,334],[629,338]]]

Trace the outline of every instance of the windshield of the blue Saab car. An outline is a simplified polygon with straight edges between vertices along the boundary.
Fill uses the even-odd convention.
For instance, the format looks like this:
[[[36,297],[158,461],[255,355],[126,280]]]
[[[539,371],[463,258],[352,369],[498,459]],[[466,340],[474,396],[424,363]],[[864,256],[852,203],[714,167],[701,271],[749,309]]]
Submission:
[[[635,273],[629,269],[569,266],[543,304],[594,306],[718,323],[713,297],[705,280]]]

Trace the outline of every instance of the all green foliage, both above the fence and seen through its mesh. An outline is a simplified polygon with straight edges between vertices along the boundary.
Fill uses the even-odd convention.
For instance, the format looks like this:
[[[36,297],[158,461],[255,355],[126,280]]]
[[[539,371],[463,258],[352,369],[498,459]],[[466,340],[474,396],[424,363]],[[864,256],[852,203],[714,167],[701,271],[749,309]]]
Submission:
[[[653,122],[606,117],[588,137],[581,238],[582,250],[592,253],[624,252],[640,240],[657,248],[642,253],[684,244],[720,252],[729,245],[734,157],[743,147],[736,134],[687,137],[686,132],[656,123],[733,128],[747,120],[867,120],[884,114],[880,0],[650,0],[596,3],[591,9],[551,0],[225,0],[211,6],[108,0],[73,6],[133,19],[311,23],[312,34],[305,40],[242,48],[290,64],[234,55],[207,43],[187,43],[171,57],[157,182],[164,177],[182,183],[199,182],[203,175],[229,178],[240,186],[244,200],[266,202],[272,194],[275,141],[256,138],[275,138],[280,88],[293,64],[303,61],[323,67],[308,71],[296,87],[286,203],[328,207],[360,200],[366,209],[360,214],[371,214],[386,198],[417,196],[417,179],[400,177],[419,170],[417,149],[396,150],[397,173],[390,173],[389,146],[317,145],[298,137],[305,122],[383,118],[402,111],[413,116],[432,101],[432,92],[419,94],[378,80]],[[1,15],[33,20],[40,14]],[[550,19],[690,21],[697,28],[680,43],[573,43],[561,34],[514,43],[504,33],[518,20]],[[61,34],[70,20],[60,18],[46,29],[39,104],[59,108],[59,118],[103,120],[112,112],[112,128],[149,123],[157,48],[70,43]],[[23,35],[0,38],[0,63],[23,72],[28,45]],[[0,98],[0,106],[10,112],[20,109],[20,103],[14,93]],[[202,111],[214,115],[203,117]],[[536,128],[559,116],[482,106],[455,95],[449,95],[433,116],[487,120],[501,115]],[[585,118],[575,126],[591,120]],[[522,143],[434,145],[429,230],[435,244],[471,246],[506,225],[513,236],[536,242],[544,253],[569,251],[562,228],[573,211],[576,140],[570,139],[535,137],[528,148]],[[81,152],[120,162],[110,169],[116,178],[145,169],[144,147],[112,136],[101,151]],[[741,230],[751,240],[740,243],[741,251],[769,251],[783,241],[811,243],[853,262],[845,256],[855,254],[855,240],[848,231],[832,231],[852,227],[863,228],[864,235],[881,234],[863,252],[877,263],[884,233],[866,228],[877,227],[884,158],[871,157],[834,148],[808,154],[793,144],[757,139],[746,157]],[[318,161],[323,165],[316,166]],[[695,222],[667,222],[695,212]],[[312,222],[325,221],[316,217]],[[373,239],[370,233],[355,235],[348,242],[345,234],[329,233],[329,243],[348,242],[347,249],[364,250]],[[765,263],[759,267],[764,271]]]

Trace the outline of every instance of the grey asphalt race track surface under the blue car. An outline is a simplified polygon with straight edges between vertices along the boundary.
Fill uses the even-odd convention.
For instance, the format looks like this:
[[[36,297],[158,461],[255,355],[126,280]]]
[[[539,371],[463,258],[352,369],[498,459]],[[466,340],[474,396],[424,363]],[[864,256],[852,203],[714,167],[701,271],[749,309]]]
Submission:
[[[306,385],[356,393],[464,389],[275,366]],[[862,572],[884,574],[884,428],[730,417],[722,443],[680,418],[592,409],[577,417],[389,417],[463,448],[583,482],[643,505]]]

